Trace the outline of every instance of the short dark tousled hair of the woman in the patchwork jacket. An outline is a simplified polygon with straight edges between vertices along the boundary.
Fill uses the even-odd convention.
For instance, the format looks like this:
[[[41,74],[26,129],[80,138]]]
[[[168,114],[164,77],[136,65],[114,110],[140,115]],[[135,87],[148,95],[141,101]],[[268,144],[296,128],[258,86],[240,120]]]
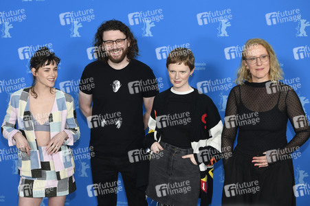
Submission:
[[[49,51],[47,47],[41,47],[34,53],[34,55],[30,59],[29,68],[30,70],[32,68],[36,69],[35,72],[38,71],[40,67],[43,67],[44,65],[49,65],[56,63],[58,65],[60,62],[60,58],[58,58],[54,52]],[[32,76],[32,85],[30,87],[30,90],[32,91],[33,97],[37,98],[38,94],[34,91],[34,85],[36,84],[36,77]],[[52,93],[52,88],[50,89]]]

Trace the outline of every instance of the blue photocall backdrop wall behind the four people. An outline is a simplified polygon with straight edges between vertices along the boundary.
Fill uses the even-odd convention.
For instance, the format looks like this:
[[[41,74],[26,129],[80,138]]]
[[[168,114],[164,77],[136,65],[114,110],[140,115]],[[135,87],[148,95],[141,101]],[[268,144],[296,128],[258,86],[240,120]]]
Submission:
[[[32,83],[30,56],[47,46],[61,58],[55,87],[74,97],[80,140],[72,147],[76,163],[74,194],[65,205],[96,205],[89,154],[90,130],[78,107],[78,83],[92,56],[92,41],[102,21],[118,19],[129,25],[140,49],[138,60],[149,65],[160,91],[171,87],[166,57],[175,47],[188,47],[195,54],[190,85],[212,98],[222,117],[242,47],[249,38],[263,38],[278,56],[286,84],[300,97],[310,113],[310,1],[100,1],[100,0],[1,0],[0,2],[0,119],[10,94]],[[2,121],[2,120],[1,120]],[[287,138],[294,136],[288,124]],[[16,147],[0,141],[0,205],[17,205]],[[297,205],[310,201],[309,141],[294,158]],[[309,173],[308,173],[309,172]],[[214,166],[212,205],[221,205],[223,165]],[[118,205],[127,205],[120,178]],[[155,205],[148,199],[150,205]],[[47,198],[41,205],[47,205]]]

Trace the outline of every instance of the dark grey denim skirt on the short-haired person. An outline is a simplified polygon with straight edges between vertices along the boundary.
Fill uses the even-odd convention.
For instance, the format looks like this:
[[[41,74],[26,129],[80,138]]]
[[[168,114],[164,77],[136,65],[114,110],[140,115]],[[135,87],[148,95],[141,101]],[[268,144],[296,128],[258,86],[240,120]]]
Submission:
[[[162,141],[159,144],[164,150],[151,158],[146,195],[165,205],[197,206],[199,166],[190,158],[182,158],[192,154],[192,148],[181,149]]]

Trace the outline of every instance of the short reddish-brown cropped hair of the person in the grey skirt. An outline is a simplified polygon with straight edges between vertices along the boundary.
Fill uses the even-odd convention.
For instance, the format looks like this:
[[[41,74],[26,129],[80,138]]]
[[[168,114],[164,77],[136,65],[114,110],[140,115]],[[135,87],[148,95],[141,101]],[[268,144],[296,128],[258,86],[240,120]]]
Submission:
[[[194,54],[192,54],[192,51],[190,49],[177,47],[168,54],[168,58],[166,61],[167,69],[168,65],[175,63],[184,63],[184,65],[188,66],[190,68],[190,71],[192,71],[192,69],[195,68],[195,56]]]

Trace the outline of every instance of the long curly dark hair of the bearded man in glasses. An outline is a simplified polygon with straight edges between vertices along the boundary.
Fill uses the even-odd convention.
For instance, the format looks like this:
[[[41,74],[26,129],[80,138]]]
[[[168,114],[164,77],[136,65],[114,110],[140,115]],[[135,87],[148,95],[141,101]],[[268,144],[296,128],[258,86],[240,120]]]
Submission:
[[[137,39],[133,36],[133,33],[127,27],[124,23],[121,21],[112,19],[110,21],[104,21],[100,25],[100,27],[97,30],[97,33],[95,34],[95,40],[93,41],[93,46],[98,47],[98,49],[95,49],[95,52],[93,54],[96,54],[98,56],[98,60],[102,60],[104,62],[107,62],[109,59],[109,54],[102,49],[103,45],[103,32],[112,31],[112,30],[120,30],[120,32],[124,33],[126,35],[126,38],[130,41],[130,47],[128,48],[128,54],[127,58],[129,60],[135,58],[138,56],[139,49],[137,48]]]

